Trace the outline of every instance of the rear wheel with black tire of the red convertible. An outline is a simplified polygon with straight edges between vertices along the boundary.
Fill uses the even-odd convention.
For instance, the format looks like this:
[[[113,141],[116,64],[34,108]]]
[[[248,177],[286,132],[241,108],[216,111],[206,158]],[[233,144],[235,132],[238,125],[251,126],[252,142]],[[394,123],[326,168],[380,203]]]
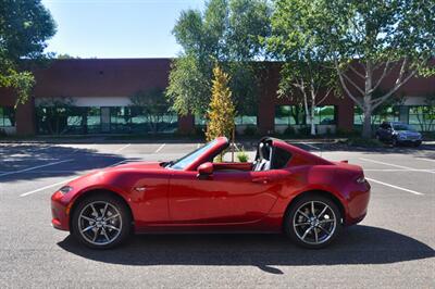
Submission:
[[[316,224],[318,226],[312,227],[311,230],[306,236],[304,240],[302,240],[301,239],[301,237],[303,237],[302,231],[303,233],[307,231],[309,227],[311,227],[312,225],[299,226],[300,224],[303,223],[309,224],[310,221],[306,219],[306,217],[301,215],[301,213],[299,213],[298,211],[303,210],[307,204],[311,206],[311,202],[314,202],[314,213],[318,214],[318,216],[322,213],[321,211],[323,211],[324,209],[324,206],[322,208],[322,204],[327,205],[328,209],[326,210],[326,212],[323,213],[322,216],[318,218],[319,221]],[[307,214],[307,211],[304,211],[304,214],[308,217],[312,217],[311,214]],[[335,218],[334,226],[332,226],[333,225],[332,223],[326,223],[332,217]],[[321,249],[332,243],[340,234],[343,229],[341,217],[343,216],[340,210],[338,210],[334,201],[319,193],[310,193],[303,196],[287,209],[287,212],[284,217],[284,231],[298,246],[309,249]],[[321,222],[322,224],[319,224]],[[331,231],[331,234],[326,235],[326,231]],[[318,240],[318,237],[319,241],[315,242],[315,240]]]

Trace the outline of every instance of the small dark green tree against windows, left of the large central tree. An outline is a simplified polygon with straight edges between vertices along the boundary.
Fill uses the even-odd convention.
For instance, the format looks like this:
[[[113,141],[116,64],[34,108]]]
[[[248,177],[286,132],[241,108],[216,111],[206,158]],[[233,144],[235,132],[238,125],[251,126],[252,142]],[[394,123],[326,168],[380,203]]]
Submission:
[[[139,90],[129,97],[133,110],[137,114],[144,115],[149,124],[151,131],[159,130],[159,124],[167,117],[170,104],[164,97],[164,90],[160,87],[148,90]]]

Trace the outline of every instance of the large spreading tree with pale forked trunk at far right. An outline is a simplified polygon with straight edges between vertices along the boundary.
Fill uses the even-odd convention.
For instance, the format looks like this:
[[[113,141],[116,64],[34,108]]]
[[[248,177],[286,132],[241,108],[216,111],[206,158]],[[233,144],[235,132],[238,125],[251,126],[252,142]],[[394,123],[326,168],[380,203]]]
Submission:
[[[322,16],[316,22],[316,33],[332,52],[343,89],[363,112],[362,136],[371,137],[371,116],[376,108],[412,77],[435,72],[431,65],[435,1],[318,2]],[[393,84],[387,90],[383,87],[386,83]],[[374,98],[377,88],[385,92]]]

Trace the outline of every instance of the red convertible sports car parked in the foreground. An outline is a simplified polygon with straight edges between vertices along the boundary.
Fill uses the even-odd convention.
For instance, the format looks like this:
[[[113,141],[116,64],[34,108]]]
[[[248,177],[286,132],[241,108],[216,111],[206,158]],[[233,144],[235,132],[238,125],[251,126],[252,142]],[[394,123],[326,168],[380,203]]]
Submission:
[[[52,225],[91,248],[132,231],[285,233],[308,248],[331,243],[366,213],[361,167],[263,138],[250,163],[213,163],[224,137],[173,162],[122,164],[79,177],[51,197]]]

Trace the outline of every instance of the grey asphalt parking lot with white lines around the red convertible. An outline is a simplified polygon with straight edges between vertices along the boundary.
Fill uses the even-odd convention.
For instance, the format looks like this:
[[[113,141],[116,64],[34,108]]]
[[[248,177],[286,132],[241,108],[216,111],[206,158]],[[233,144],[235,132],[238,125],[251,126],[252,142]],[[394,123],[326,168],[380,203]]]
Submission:
[[[299,143],[364,168],[366,218],[324,250],[279,235],[136,236],[92,251],[51,227],[49,198],[90,169],[172,160],[200,143],[0,143],[0,288],[435,286],[435,146],[336,150]]]

